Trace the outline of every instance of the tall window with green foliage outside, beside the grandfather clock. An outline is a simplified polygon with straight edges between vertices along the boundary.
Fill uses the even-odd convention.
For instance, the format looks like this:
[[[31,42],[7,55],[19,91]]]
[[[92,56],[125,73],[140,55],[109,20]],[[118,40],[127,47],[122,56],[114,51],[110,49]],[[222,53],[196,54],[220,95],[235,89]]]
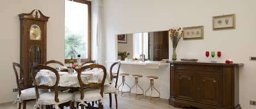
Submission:
[[[91,2],[65,0],[65,62],[79,54],[91,60]]]

